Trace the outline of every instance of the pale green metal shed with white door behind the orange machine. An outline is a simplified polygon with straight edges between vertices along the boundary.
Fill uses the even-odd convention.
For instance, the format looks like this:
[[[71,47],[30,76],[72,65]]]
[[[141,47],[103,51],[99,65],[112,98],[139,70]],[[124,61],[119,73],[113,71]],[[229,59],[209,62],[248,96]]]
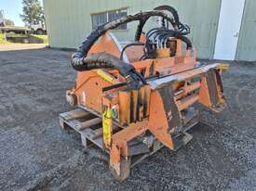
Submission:
[[[124,8],[127,9],[128,14],[133,14],[141,10],[151,10],[155,6],[170,5],[179,11],[182,22],[191,27],[190,38],[200,58],[222,58],[214,55],[216,55],[215,48],[218,47],[217,38],[222,36],[222,33],[218,35],[220,19],[225,17],[221,14],[222,6],[229,3],[236,4],[242,10],[240,35],[235,42],[236,57],[230,59],[255,60],[256,35],[253,34],[253,29],[256,27],[256,14],[253,9],[256,7],[256,2],[253,0],[44,0],[49,45],[52,47],[77,47],[91,32],[92,17],[95,14]],[[222,12],[227,11],[232,10],[223,9]],[[128,24],[127,29],[113,32],[121,41],[127,41],[132,40],[135,28],[135,23]],[[230,35],[234,34],[230,33]],[[220,46],[222,47],[222,44]]]

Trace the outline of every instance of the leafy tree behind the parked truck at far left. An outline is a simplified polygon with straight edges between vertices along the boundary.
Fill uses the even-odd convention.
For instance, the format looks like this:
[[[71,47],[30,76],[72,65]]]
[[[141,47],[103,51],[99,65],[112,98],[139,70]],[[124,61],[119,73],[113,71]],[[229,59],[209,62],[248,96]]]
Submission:
[[[22,5],[20,18],[27,26],[44,21],[44,10],[39,0],[22,0]]]

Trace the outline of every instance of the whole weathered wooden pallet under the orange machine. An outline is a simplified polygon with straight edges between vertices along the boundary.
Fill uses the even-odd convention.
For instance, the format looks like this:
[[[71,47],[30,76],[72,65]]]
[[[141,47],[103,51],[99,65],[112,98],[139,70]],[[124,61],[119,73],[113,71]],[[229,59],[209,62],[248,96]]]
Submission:
[[[182,126],[182,131],[180,134],[173,136],[173,142],[175,143],[174,151],[180,149],[182,146],[186,145],[191,141],[192,136],[186,132],[191,129],[198,122],[197,118],[191,113],[187,113],[186,124]],[[81,134],[81,140],[83,146],[90,146],[92,144],[99,146],[101,149],[103,147],[103,129],[102,129],[102,120],[95,114],[86,111],[83,108],[76,108],[74,110],[64,112],[60,114],[60,124],[61,129],[67,132],[75,131]],[[117,130],[116,125],[113,126],[113,130]],[[153,135],[151,138],[155,139]],[[131,166],[134,166],[136,163],[140,162],[141,159],[144,159],[158,149],[163,147],[163,145],[155,139],[153,148],[150,150],[147,145],[143,143],[139,138],[134,138],[128,143],[128,157],[133,157],[134,161]],[[104,151],[108,152],[107,149]]]

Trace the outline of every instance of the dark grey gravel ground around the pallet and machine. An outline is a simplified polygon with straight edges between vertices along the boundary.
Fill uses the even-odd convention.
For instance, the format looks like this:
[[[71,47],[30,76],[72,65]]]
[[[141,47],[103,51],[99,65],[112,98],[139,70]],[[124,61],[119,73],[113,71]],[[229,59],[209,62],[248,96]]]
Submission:
[[[58,115],[75,72],[70,52],[0,52],[0,190],[255,190],[256,63],[231,63],[223,75],[228,106],[201,111],[194,139],[161,149],[119,183],[108,156],[65,134]]]

